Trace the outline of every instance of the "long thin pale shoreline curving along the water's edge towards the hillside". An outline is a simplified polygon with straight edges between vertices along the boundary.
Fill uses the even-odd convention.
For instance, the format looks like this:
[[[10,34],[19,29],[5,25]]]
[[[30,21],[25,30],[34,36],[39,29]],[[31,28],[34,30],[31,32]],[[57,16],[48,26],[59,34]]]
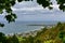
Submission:
[[[52,26],[55,26],[55,25],[52,25]],[[47,28],[51,28],[52,26],[41,26],[39,29],[34,29],[34,30],[28,30],[28,31],[24,31],[24,32],[17,32],[17,33],[8,33],[5,35],[23,35],[23,37],[26,37],[26,35],[32,35],[35,33],[37,33],[38,31],[42,30],[44,27]]]

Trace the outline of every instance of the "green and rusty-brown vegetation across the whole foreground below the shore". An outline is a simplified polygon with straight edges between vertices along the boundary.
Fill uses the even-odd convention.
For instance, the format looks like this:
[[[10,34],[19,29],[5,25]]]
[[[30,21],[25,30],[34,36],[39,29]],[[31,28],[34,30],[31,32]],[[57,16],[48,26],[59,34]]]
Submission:
[[[4,35],[0,32],[0,43],[65,43],[65,23],[43,28],[35,37]]]

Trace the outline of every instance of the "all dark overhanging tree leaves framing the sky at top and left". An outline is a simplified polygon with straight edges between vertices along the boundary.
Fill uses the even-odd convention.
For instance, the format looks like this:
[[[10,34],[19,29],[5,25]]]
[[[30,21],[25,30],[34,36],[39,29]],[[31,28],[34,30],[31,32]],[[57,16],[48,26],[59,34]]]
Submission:
[[[32,0],[0,0],[0,14],[3,13],[3,10],[5,10],[5,12],[8,13],[8,15],[4,16],[4,18],[11,23],[11,22],[15,22],[15,19],[17,18],[17,16],[12,12],[11,6],[13,6],[15,3],[17,2],[22,2],[22,1],[32,1]],[[55,0],[58,4],[58,9],[62,11],[65,11],[65,0]],[[52,9],[51,5],[52,2],[51,0],[37,0],[37,3],[39,5],[42,5],[44,9],[49,8],[50,10]],[[0,24],[0,27],[3,27],[3,24]]]

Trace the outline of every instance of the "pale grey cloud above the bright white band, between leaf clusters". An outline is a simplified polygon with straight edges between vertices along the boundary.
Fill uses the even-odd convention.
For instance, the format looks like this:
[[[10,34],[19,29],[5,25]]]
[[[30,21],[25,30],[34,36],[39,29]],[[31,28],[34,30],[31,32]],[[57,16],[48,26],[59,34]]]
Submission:
[[[22,9],[22,8],[32,8],[32,6],[37,6],[38,5],[38,3],[37,2],[35,2],[35,1],[23,1],[23,2],[21,2],[21,3],[16,3],[15,5],[14,5],[14,8],[16,8],[16,9]]]

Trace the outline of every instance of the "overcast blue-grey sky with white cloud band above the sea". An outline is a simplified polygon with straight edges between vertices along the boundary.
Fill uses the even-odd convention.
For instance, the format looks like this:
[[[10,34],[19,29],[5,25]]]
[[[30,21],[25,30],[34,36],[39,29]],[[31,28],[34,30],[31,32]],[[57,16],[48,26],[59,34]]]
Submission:
[[[65,12],[62,12],[57,9],[57,5],[54,3],[54,9],[43,9],[35,1],[23,1],[16,3],[12,10],[17,15],[20,22],[46,22],[46,20],[58,20],[65,22]],[[3,13],[5,14],[5,13]],[[0,15],[0,20],[3,20],[4,15]]]

